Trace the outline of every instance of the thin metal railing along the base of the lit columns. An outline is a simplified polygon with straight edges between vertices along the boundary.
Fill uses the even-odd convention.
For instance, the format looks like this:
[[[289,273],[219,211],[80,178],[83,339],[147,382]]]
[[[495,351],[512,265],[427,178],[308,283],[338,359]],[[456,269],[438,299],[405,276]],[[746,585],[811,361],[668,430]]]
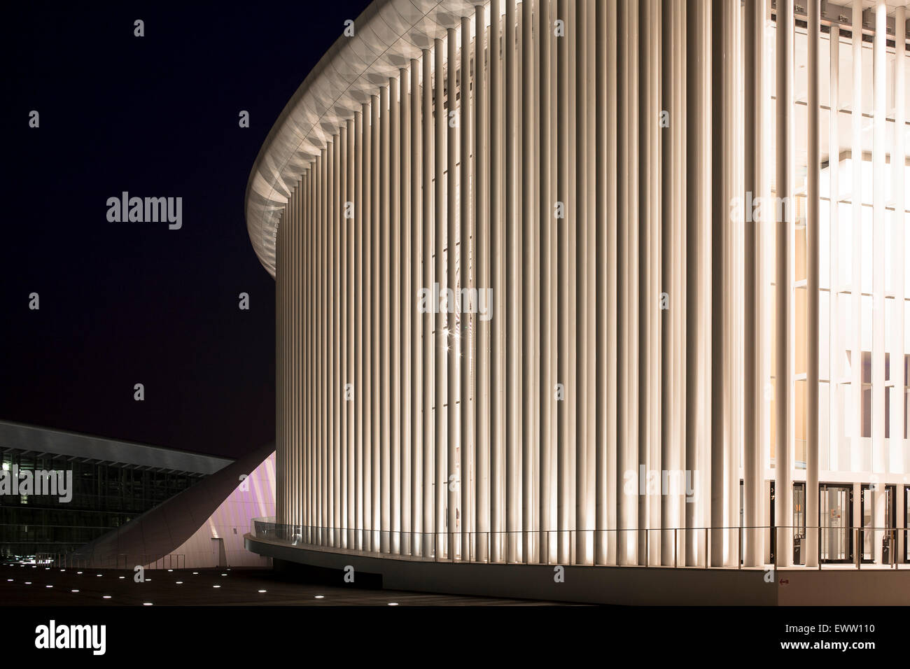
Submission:
[[[816,532],[818,568],[823,564],[854,563],[860,569],[860,540],[863,532],[874,532],[887,539],[888,567],[897,568],[897,539],[905,528],[847,528],[804,526],[696,527],[631,530],[533,530],[515,532],[404,532],[363,530],[275,522],[255,518],[253,538],[308,550],[344,552],[371,557],[396,558],[419,562],[516,563],[641,567],[743,567],[743,546],[750,536],[762,532],[764,555],[759,567],[781,566],[780,548],[785,540],[801,547],[806,532]],[[769,559],[771,532],[778,550]],[[825,538],[827,541],[825,541]],[[836,539],[836,546],[832,539]],[[736,546],[740,560],[731,562],[730,546]],[[883,541],[884,546],[884,541]],[[713,554],[718,547],[717,554]],[[726,553],[724,552],[726,548]],[[836,549],[836,550],[835,550]],[[711,556],[705,560],[705,556]],[[803,562],[805,555],[803,553]],[[788,561],[794,564],[794,561]],[[798,565],[794,565],[798,566]],[[865,563],[865,568],[870,568]],[[875,563],[881,568],[882,563]]]

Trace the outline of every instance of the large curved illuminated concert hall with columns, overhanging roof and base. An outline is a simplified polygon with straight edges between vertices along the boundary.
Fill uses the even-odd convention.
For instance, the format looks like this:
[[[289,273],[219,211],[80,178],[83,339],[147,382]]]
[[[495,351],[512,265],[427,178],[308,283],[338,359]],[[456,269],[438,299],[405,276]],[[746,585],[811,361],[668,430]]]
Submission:
[[[402,589],[910,601],[906,4],[800,5],[339,25],[248,182],[278,383],[250,550]]]

